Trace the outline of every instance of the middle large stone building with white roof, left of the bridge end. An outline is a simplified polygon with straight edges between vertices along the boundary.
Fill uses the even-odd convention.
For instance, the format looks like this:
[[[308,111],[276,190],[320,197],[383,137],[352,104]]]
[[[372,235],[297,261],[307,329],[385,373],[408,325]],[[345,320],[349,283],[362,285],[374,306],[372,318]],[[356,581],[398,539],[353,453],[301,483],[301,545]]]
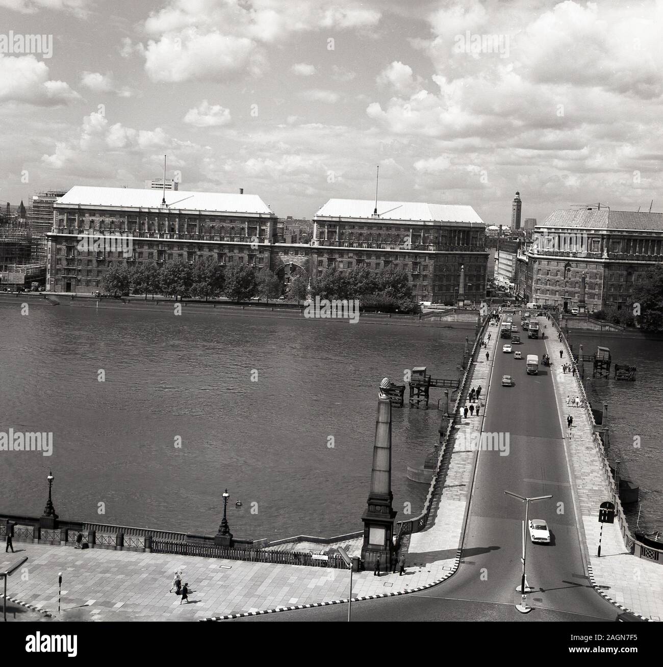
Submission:
[[[471,206],[413,201],[329,199],[313,217],[311,271],[364,265],[408,273],[418,301],[455,303],[486,295],[486,225]]]

